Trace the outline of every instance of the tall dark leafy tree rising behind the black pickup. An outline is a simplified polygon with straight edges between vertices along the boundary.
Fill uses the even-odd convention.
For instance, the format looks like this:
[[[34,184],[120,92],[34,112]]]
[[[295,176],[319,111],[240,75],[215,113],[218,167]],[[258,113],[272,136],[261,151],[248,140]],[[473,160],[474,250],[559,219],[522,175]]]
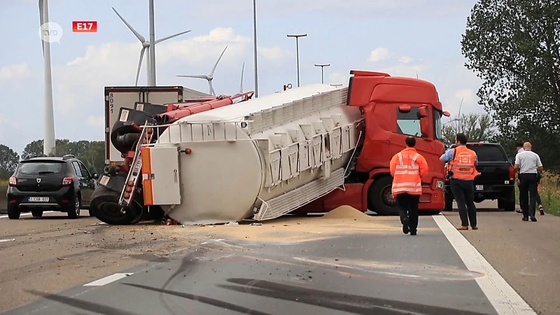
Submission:
[[[479,0],[461,41],[500,132],[560,130],[560,0]]]

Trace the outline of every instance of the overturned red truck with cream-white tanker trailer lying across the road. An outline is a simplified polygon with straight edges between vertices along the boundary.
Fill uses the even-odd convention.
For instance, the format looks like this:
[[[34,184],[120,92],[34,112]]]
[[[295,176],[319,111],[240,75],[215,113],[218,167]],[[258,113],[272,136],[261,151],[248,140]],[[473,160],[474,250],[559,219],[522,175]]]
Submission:
[[[398,213],[389,161],[417,137],[429,165],[421,211],[444,208],[442,111],[432,83],[351,71],[349,86],[314,84],[251,99],[190,99],[121,109],[108,166],[92,195],[99,220],[163,214],[182,224],[265,221],[342,204]]]

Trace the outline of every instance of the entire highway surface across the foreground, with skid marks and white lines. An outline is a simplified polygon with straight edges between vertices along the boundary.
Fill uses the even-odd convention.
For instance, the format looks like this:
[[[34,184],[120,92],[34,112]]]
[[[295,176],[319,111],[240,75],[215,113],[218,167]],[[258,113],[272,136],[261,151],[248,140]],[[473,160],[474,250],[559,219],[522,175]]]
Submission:
[[[304,239],[286,234],[300,222],[230,237],[0,218],[1,239],[16,239],[0,242],[0,310],[35,300],[3,314],[560,314],[560,218],[538,219],[481,209],[479,230],[458,232],[456,212],[422,216],[412,237],[398,218],[375,217],[303,227],[317,236]],[[261,227],[229,229],[250,228]]]

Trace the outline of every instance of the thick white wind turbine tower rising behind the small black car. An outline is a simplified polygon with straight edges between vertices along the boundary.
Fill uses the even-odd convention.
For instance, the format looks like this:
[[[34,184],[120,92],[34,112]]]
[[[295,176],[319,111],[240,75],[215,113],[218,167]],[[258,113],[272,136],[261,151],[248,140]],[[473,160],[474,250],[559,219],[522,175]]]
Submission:
[[[43,140],[43,154],[50,155],[55,152],[55,110],[52,106],[52,73],[50,69],[50,32],[48,29],[48,0],[38,0],[39,19],[41,21],[41,44],[43,45],[43,89],[45,101],[45,129]],[[45,25],[43,27],[43,25]]]

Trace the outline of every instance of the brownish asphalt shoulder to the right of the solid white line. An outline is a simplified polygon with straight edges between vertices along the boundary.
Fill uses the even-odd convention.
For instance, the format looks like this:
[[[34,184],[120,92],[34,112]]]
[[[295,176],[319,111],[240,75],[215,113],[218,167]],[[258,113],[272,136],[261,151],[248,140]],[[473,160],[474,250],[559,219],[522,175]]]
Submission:
[[[560,314],[560,217],[537,214],[537,222],[524,222],[496,207],[477,204],[479,230],[461,233],[535,311]],[[457,211],[444,214],[461,224]]]

